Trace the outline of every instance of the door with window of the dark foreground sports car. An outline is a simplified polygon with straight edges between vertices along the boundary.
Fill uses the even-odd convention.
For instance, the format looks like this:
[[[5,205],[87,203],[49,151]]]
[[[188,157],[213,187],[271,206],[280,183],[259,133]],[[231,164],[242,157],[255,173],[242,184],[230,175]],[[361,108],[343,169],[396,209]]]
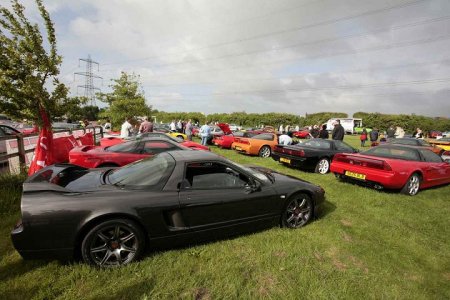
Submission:
[[[186,165],[180,190],[182,216],[191,229],[208,229],[273,217],[275,191],[220,162]]]

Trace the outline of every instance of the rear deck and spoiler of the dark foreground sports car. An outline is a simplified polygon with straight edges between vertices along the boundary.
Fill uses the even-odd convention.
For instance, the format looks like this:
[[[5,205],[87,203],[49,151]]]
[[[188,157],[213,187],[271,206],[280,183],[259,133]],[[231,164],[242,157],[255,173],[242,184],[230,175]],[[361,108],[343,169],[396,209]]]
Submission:
[[[116,189],[103,180],[109,170],[111,168],[86,169],[71,164],[55,164],[30,176],[23,184],[23,191],[71,193]]]

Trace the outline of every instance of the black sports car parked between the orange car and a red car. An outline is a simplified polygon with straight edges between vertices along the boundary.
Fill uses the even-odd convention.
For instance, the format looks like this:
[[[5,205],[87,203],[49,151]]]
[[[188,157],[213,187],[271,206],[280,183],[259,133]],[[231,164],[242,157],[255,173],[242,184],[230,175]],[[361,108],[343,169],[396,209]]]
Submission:
[[[277,145],[272,158],[280,163],[316,173],[330,171],[330,162],[336,153],[356,153],[357,149],[336,140],[310,139],[295,145]]]

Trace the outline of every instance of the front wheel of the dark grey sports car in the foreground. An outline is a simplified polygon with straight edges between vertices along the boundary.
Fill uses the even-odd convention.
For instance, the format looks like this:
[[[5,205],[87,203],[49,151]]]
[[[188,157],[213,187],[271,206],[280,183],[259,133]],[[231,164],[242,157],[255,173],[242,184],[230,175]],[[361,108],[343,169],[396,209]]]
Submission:
[[[281,226],[300,228],[306,225],[314,215],[314,205],[310,196],[304,193],[295,194],[289,198],[283,214]]]

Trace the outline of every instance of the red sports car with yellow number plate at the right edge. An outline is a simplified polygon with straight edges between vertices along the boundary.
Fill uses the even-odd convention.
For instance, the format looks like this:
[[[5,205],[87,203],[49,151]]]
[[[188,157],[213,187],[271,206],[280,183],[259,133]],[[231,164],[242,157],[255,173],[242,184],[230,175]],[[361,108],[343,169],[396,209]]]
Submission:
[[[414,196],[419,189],[450,183],[450,163],[426,148],[380,145],[358,154],[336,154],[331,172],[341,179],[376,189],[399,189]]]

